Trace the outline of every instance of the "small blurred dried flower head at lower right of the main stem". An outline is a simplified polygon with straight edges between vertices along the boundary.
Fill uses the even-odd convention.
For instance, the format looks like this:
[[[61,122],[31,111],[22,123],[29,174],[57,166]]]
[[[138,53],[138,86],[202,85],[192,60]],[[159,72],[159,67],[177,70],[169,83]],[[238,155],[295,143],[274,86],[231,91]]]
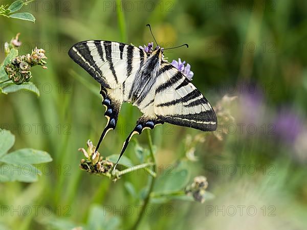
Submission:
[[[208,181],[205,176],[196,176],[192,185],[189,185],[185,189],[187,195],[193,196],[195,201],[201,203],[205,202],[205,193],[208,187]]]

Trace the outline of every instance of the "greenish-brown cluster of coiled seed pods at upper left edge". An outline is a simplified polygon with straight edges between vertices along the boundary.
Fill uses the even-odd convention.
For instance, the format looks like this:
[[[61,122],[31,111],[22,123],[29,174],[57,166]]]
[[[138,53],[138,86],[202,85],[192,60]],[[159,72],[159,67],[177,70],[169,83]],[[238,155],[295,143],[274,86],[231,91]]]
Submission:
[[[47,59],[45,50],[35,48],[31,55],[27,54],[13,58],[11,63],[7,64],[4,69],[9,79],[16,85],[20,85],[32,79],[31,67],[41,65],[42,68],[47,68],[45,59]]]

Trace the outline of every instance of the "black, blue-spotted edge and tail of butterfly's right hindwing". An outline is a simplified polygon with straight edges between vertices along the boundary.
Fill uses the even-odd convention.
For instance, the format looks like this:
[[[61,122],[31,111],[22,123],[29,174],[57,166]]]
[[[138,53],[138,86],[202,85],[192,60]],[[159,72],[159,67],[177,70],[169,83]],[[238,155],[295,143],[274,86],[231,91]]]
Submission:
[[[120,158],[122,157],[122,155],[124,154],[132,136],[134,134],[141,134],[143,132],[144,129],[153,129],[155,128],[157,125],[162,125],[164,122],[161,121],[158,118],[148,118],[148,117],[144,117],[142,116],[141,118],[138,119],[137,121],[137,125],[136,127],[130,132],[130,134],[128,135],[127,139],[125,140],[122,150],[120,152],[119,158],[114,166],[114,170],[116,169],[116,166],[120,160]]]

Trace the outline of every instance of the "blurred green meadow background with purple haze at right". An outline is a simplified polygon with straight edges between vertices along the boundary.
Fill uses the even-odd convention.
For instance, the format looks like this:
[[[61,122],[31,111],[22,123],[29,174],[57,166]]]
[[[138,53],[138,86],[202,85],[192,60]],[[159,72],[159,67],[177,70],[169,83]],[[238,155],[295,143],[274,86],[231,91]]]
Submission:
[[[99,84],[67,52],[90,39],[147,44],[147,23],[162,47],[189,44],[164,55],[191,64],[193,84],[221,120],[214,133],[169,124],[151,132],[160,174],[188,152],[190,181],[206,176],[215,198],[151,203],[155,212],[149,210],[138,229],[306,229],[306,1],[44,0],[24,11],[36,17],[35,24],[0,18],[0,60],[4,42],[20,32],[20,54],[45,49],[48,70],[32,72],[39,98],[25,91],[0,95],[0,127],[16,135],[14,149],[45,150],[53,162],[37,182],[0,184],[1,206],[32,207],[30,215],[1,212],[3,229],[72,229],[91,218],[108,224],[89,229],[134,224],[142,199],[127,187],[141,194],[148,175],[135,172],[113,183],[79,169],[78,148],[88,139],[96,144],[106,119]],[[221,102],[224,95],[237,98]],[[119,153],[139,116],[137,108],[123,105],[118,129],[102,142],[103,156]],[[134,139],[147,148],[145,134]],[[135,144],[125,154],[139,164]]]

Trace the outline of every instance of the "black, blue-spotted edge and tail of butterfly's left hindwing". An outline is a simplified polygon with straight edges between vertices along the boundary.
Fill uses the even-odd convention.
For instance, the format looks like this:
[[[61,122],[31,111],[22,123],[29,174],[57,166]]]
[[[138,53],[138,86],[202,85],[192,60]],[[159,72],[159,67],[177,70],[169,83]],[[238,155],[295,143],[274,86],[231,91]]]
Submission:
[[[105,135],[107,134],[108,131],[115,129],[117,120],[118,120],[118,114],[119,110],[122,104],[122,101],[115,99],[112,97],[112,90],[108,90],[101,86],[100,94],[102,96],[102,105],[106,108],[104,116],[107,119],[107,123],[105,128],[103,129],[99,142],[96,147],[96,152],[99,149],[99,146],[104,139]]]

